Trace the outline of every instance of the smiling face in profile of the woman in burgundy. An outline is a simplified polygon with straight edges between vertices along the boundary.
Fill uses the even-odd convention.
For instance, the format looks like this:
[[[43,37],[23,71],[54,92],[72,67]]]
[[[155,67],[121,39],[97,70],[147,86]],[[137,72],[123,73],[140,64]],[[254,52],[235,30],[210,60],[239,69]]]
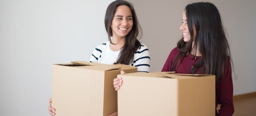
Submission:
[[[189,42],[191,37],[190,37],[190,32],[189,32],[189,28],[188,28],[187,17],[186,17],[185,11],[183,12],[182,25],[180,27],[180,30],[183,31],[183,40],[185,42]]]

